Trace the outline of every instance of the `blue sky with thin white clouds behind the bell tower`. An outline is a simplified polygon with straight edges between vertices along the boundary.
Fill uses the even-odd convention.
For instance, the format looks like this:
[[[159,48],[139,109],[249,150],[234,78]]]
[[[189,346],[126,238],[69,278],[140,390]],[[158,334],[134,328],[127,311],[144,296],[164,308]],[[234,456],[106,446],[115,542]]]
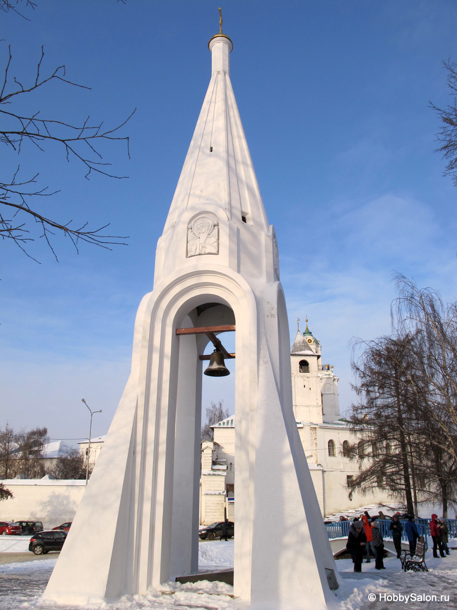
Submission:
[[[38,0],[30,21],[1,13],[0,59],[27,81],[44,45],[43,70],[91,90],[52,84],[21,109],[108,126],[136,113],[122,145],[104,150],[129,179],[93,176],[52,146],[2,154],[24,176],[60,189],[40,210],[97,227],[110,222],[128,246],[85,246],[56,237],[60,262],[42,240],[27,259],[1,243],[0,426],[48,426],[51,438],[104,434],[129,375],[133,323],[152,289],[155,246],[171,204],[210,80],[207,43],[219,28],[210,0]],[[268,220],[274,224],[291,337],[305,314],[324,362],[350,392],[352,337],[389,332],[392,273],[456,298],[457,189],[428,108],[450,102],[442,60],[457,61],[453,0],[226,1],[233,41],[230,76]],[[302,329],[303,329],[302,328]],[[206,386],[204,404],[224,398],[233,376]],[[221,381],[221,380],[218,380]]]

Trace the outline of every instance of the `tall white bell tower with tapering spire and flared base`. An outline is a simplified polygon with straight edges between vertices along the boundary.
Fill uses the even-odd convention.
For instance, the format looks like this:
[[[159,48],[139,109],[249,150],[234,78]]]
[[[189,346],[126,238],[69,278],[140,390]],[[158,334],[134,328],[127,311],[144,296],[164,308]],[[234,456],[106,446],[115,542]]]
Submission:
[[[145,594],[197,572],[200,357],[235,329],[235,595],[263,610],[334,599],[335,561],[292,412],[275,232],[230,84],[233,45],[221,31],[208,46],[211,81],[158,240],[154,290],[136,315],[132,372],[48,600]]]

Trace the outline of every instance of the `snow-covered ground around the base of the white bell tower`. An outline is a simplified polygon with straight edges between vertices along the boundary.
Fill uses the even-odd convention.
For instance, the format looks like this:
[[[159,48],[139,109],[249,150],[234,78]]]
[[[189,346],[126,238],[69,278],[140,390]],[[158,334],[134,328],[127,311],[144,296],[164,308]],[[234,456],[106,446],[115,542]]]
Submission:
[[[28,544],[28,537],[0,537],[0,553],[26,551]],[[430,570],[428,573],[403,573],[399,559],[390,558],[384,560],[386,570],[378,572],[372,561],[363,564],[361,574],[353,572],[350,559],[339,559],[336,565],[343,577],[343,584],[336,592],[335,607],[332,610],[457,610],[457,550],[452,550],[450,556],[444,559],[433,559],[429,550],[425,559]],[[230,567],[233,565],[233,540],[200,542],[199,560],[200,570]],[[0,565],[0,610],[57,610],[56,606],[49,603],[42,605],[40,601],[41,592],[46,587],[56,561],[57,555],[54,554],[41,561]],[[223,583],[169,583],[163,593],[154,591],[148,595],[126,595],[116,603],[87,608],[241,610],[243,605],[230,597],[231,594],[233,587]],[[374,596],[373,600],[370,595]],[[75,610],[74,606],[58,608]]]

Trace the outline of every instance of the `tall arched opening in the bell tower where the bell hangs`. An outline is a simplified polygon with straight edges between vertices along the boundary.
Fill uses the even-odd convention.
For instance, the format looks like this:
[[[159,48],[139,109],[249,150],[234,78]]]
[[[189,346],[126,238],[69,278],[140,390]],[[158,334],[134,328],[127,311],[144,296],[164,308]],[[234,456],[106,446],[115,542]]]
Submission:
[[[207,297],[208,298],[208,297]],[[213,297],[214,298],[214,297]],[[225,303],[215,300],[207,300],[193,307],[184,317],[182,322],[177,320],[178,333],[188,332],[188,335],[179,334],[179,365],[178,365],[178,392],[177,411],[175,421],[175,455],[174,455],[174,492],[173,492],[173,517],[172,517],[172,556],[171,574],[183,575],[188,573],[185,561],[182,560],[180,548],[182,545],[183,522],[186,520],[185,512],[193,511],[192,525],[190,525],[193,537],[194,556],[191,572],[198,571],[198,544],[199,534],[202,530],[199,525],[208,526],[214,522],[229,522],[234,520],[235,512],[235,314]],[[227,332],[222,331],[224,327]],[[219,345],[224,354],[224,365],[230,371],[227,376],[208,376],[204,374],[209,364],[210,355],[214,351],[214,343]],[[188,348],[185,344],[188,343]],[[192,347],[191,347],[192,345]],[[219,349],[219,347],[218,347]],[[197,362],[196,362],[197,361]],[[195,382],[195,407],[194,423],[191,422],[191,407],[193,389],[190,386],[190,375],[187,371],[193,368],[196,371]],[[205,423],[207,408],[211,403],[219,406],[219,401],[224,409],[227,409],[228,417],[211,422],[213,440],[208,440],[200,445],[200,429]],[[223,402],[222,402],[223,401]],[[217,409],[216,409],[217,411]],[[191,428],[194,435],[190,434]],[[179,430],[181,433],[179,434]],[[191,482],[185,481],[185,476],[180,473],[181,464],[186,463],[186,458],[181,445],[190,445],[189,437],[193,436],[194,464],[193,476],[189,468],[183,465]],[[202,448],[205,450],[202,451]],[[187,455],[191,448],[188,447]],[[197,457],[198,456],[198,457]],[[197,462],[198,460],[198,462]],[[198,472],[196,472],[198,468]],[[201,468],[201,474],[200,474]],[[181,504],[183,493],[181,486],[188,488],[193,497],[193,507],[190,502]],[[190,486],[193,487],[190,490]],[[175,501],[176,494],[176,501]],[[178,516],[180,514],[180,516]],[[187,517],[190,522],[190,518]],[[220,533],[216,531],[216,538]],[[179,542],[179,539],[181,541]],[[211,534],[212,538],[212,534]]]

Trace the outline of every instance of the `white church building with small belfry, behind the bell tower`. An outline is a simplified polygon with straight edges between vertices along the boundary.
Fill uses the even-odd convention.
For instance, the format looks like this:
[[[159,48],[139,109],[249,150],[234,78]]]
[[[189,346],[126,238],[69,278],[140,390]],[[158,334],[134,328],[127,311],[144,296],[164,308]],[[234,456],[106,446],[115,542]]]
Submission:
[[[321,343],[308,329],[297,335],[291,348],[293,410],[305,450],[322,516],[344,512],[366,503],[388,503],[386,491],[374,487],[367,495],[353,490],[350,482],[359,462],[349,459],[349,446],[357,442],[338,404],[338,377],[333,366],[322,363]],[[235,415],[213,426],[214,442],[202,442],[200,524],[235,514]]]

